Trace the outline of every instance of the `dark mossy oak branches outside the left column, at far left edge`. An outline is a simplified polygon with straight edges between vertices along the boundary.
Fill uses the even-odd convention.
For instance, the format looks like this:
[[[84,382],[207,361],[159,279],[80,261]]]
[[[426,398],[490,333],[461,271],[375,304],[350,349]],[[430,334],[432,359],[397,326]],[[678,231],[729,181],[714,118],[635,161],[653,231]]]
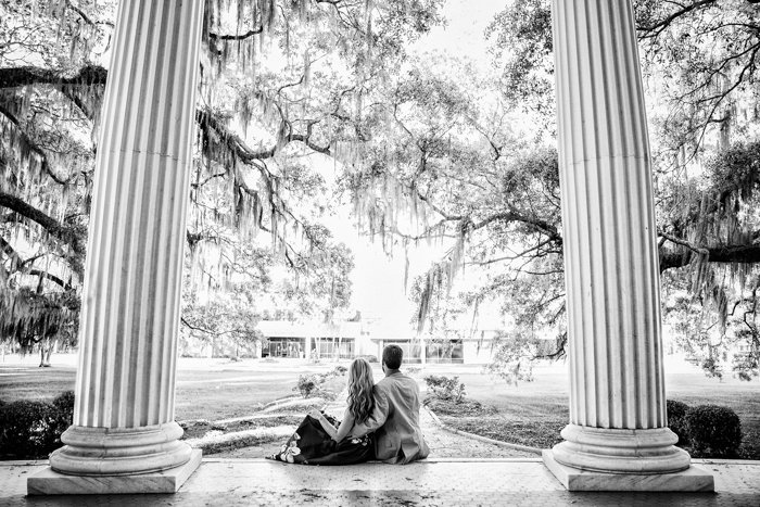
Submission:
[[[104,72],[75,62],[98,59],[107,27],[60,16],[64,2],[33,5],[0,8],[0,337],[40,343],[42,366],[52,341],[76,340]]]

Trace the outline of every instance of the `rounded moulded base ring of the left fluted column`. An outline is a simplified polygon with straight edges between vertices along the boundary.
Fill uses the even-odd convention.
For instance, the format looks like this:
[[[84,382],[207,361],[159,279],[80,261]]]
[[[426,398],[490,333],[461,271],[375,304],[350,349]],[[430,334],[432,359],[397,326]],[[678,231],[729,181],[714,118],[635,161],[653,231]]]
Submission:
[[[177,422],[140,428],[69,427],[50,467],[72,476],[135,476],[185,465],[192,449]]]

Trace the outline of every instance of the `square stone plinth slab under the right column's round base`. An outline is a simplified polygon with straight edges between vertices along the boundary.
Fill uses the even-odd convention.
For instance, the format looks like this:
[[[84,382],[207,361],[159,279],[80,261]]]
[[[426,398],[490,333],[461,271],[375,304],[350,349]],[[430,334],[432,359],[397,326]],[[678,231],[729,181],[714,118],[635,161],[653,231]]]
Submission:
[[[579,470],[557,462],[544,451],[544,465],[568,491],[705,492],[715,491],[712,474],[697,467],[676,473],[635,474]]]

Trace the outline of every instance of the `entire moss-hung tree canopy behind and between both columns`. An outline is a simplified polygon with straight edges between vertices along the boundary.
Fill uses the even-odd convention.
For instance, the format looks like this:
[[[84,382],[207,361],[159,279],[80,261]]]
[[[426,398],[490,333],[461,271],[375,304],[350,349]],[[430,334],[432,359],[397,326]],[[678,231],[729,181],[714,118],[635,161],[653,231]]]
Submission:
[[[562,356],[550,2],[515,0],[495,16],[489,68],[408,54],[443,23],[442,3],[206,2],[189,332],[240,331],[210,325],[220,312],[211,292],[225,293],[230,324],[259,318],[262,301],[327,320],[347,309],[352,255],[326,217],[350,201],[389,253],[445,245],[409,283],[420,334],[453,337],[455,321],[496,305],[506,324],[495,372],[524,379],[530,359]],[[666,324],[711,375],[732,348],[731,367],[752,378],[758,2],[634,4]],[[62,329],[76,335],[114,2],[0,9],[0,312],[3,338],[28,345]]]

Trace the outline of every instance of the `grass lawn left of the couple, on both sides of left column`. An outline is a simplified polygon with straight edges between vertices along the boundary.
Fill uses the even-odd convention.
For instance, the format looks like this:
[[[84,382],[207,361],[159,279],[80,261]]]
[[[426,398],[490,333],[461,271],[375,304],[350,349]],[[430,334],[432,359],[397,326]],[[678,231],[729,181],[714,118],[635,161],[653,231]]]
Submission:
[[[76,369],[65,360],[52,368],[37,368],[27,362],[0,363],[0,400],[51,401],[62,391],[73,390]],[[325,373],[334,368],[326,362],[319,365],[244,360],[180,359],[177,371],[176,419],[182,422],[185,440],[200,439],[208,433],[229,434],[223,441],[212,440],[203,445],[204,454],[229,453],[242,447],[262,447],[258,452],[271,454],[282,442],[281,436],[239,434],[244,430],[290,426],[303,419],[302,405],[292,414],[256,419],[215,423],[220,419],[251,416],[262,407],[286,396],[299,396],[294,391],[299,375]],[[339,393],[346,382],[345,376],[330,377],[321,385],[326,395]],[[311,401],[312,398],[309,398]],[[325,400],[317,401],[320,404]],[[289,411],[289,410],[279,410]]]

